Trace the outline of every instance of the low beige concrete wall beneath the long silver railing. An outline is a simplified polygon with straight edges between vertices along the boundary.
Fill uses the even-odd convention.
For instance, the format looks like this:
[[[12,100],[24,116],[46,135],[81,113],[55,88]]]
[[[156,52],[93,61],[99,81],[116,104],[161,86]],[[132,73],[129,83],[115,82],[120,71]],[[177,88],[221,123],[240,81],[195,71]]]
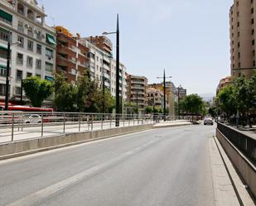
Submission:
[[[93,132],[80,132],[72,134],[64,134],[57,137],[36,138],[26,141],[14,141],[0,145],[0,160],[24,156],[38,151],[47,151],[84,143],[85,141],[93,141],[100,138],[114,137],[132,132],[139,132],[151,129],[153,124],[138,125],[133,127],[118,127],[107,130],[99,130]]]

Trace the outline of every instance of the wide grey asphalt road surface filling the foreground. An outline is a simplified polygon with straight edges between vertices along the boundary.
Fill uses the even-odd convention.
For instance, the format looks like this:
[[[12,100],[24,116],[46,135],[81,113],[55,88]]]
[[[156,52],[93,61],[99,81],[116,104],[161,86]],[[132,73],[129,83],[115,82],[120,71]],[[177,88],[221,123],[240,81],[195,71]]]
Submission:
[[[215,205],[212,126],[138,132],[0,162],[0,205]]]

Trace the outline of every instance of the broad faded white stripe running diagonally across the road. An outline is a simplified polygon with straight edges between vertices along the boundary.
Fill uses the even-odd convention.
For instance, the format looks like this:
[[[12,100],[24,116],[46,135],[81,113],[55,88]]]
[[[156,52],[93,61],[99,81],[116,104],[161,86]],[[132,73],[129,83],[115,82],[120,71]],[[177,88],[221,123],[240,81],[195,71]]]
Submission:
[[[129,156],[133,156],[134,154],[138,153],[139,151],[142,151],[147,146],[151,146],[156,141],[159,141],[157,139],[154,139],[152,141],[147,142],[146,144],[142,146],[138,146],[134,148],[131,151],[123,153],[123,155],[115,157],[114,159],[108,160],[100,165],[95,165],[91,167],[88,170],[85,170],[77,175],[71,176],[70,178],[67,178],[65,180],[61,180],[60,182],[56,184],[52,184],[51,186],[46,187],[45,189],[41,189],[33,194],[27,195],[27,197],[24,197],[22,199],[18,199],[17,201],[7,204],[6,206],[29,206],[32,204],[38,203],[41,199],[46,199],[47,197],[56,194],[57,192],[60,192],[61,190],[70,187],[81,180],[85,180],[86,178],[89,178],[90,175],[94,175],[95,173],[99,173],[100,170],[104,170],[105,168],[115,165],[119,161],[128,158]]]

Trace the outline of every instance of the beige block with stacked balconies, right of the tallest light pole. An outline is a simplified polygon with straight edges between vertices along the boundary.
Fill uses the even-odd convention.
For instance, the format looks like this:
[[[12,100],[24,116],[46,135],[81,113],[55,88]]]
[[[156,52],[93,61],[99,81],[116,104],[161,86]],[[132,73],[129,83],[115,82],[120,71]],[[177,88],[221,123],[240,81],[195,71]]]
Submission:
[[[138,112],[143,113],[147,107],[147,78],[128,74],[127,97],[128,102],[138,104]]]

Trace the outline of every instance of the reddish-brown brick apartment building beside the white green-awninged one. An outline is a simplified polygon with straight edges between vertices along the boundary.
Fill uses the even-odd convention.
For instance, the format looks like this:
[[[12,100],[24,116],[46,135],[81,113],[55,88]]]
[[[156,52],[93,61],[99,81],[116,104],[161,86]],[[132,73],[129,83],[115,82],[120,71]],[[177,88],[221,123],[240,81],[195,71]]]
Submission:
[[[67,81],[75,84],[89,68],[89,48],[82,44],[79,35],[73,36],[63,26],[56,26],[56,37],[56,72],[64,73]]]

